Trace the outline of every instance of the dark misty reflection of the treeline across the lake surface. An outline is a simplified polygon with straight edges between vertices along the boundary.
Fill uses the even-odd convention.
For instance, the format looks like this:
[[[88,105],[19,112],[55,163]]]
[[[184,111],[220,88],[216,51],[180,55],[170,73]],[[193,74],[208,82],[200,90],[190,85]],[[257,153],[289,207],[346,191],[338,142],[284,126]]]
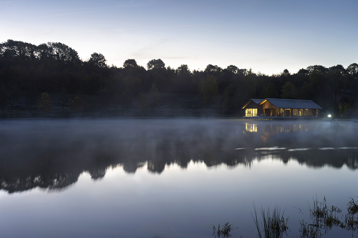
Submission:
[[[121,134],[116,130],[105,133],[90,131],[73,133],[71,137],[68,137],[68,131],[54,134],[48,129],[30,131],[25,139],[4,133],[5,138],[0,144],[0,189],[9,193],[35,187],[63,189],[75,183],[83,172],[89,172],[96,180],[103,178],[109,167],[118,165],[127,173],[135,173],[146,165],[149,172],[158,174],[171,164],[185,169],[191,161],[202,162],[207,167],[221,164],[229,168],[250,167],[253,161],[267,159],[268,155],[283,163],[297,160],[299,164],[313,168],[325,165],[358,168],[357,149],[319,150],[317,147],[333,146],[335,143],[332,141],[338,140],[329,140],[326,134],[312,128],[307,132],[310,127],[286,126],[282,129],[265,125],[264,134],[260,134],[262,126],[257,126],[257,133],[247,132],[245,124],[230,126],[196,124],[164,129],[158,126],[132,134],[129,131]],[[280,128],[283,133],[276,133]],[[299,134],[292,133],[296,128]],[[338,129],[342,131],[342,128]],[[260,138],[262,135],[268,136],[264,142]],[[352,138],[336,137],[340,140],[335,147],[352,144],[347,142]],[[311,144],[312,149],[255,150],[282,144],[290,148],[305,148]]]

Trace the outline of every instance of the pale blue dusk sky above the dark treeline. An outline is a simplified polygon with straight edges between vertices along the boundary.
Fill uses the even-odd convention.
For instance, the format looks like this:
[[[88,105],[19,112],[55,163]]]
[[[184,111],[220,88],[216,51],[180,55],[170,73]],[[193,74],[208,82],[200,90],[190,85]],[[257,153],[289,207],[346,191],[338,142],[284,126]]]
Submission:
[[[296,73],[358,63],[357,12],[357,0],[0,0],[0,42],[61,42],[117,67]]]

